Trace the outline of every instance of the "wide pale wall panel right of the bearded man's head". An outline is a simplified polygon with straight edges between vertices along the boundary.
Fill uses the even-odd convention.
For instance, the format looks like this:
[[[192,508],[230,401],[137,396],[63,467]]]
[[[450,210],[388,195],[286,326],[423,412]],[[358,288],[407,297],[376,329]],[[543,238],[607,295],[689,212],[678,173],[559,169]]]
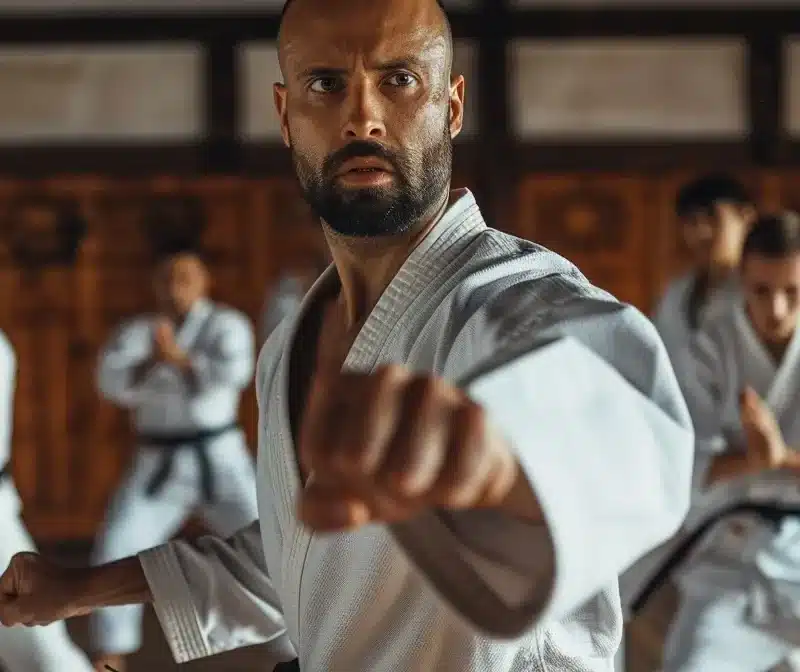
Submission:
[[[703,136],[747,132],[738,40],[521,40],[512,45],[520,137]]]

